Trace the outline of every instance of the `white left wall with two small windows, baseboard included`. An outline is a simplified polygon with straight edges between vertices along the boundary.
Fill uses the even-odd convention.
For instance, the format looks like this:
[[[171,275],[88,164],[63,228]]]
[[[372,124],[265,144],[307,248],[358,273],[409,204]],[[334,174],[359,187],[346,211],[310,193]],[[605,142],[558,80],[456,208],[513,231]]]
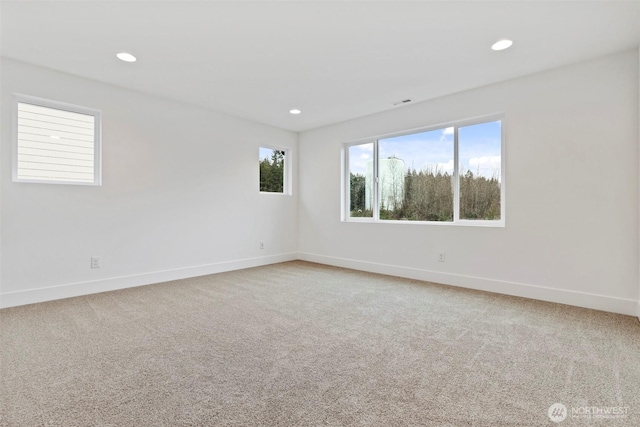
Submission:
[[[1,70],[1,306],[295,259],[297,188],[258,191],[259,146],[295,160],[295,133],[8,59]],[[12,93],[102,110],[101,187],[12,182]]]

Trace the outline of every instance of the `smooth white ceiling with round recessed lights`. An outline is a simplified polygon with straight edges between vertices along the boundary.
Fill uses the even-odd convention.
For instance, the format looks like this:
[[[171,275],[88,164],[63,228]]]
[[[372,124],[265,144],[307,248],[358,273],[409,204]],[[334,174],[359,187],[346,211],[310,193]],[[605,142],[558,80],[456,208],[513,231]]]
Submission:
[[[638,0],[19,0],[0,7],[5,57],[293,131],[640,42]],[[501,38],[513,47],[492,51]],[[121,51],[138,62],[119,61]]]

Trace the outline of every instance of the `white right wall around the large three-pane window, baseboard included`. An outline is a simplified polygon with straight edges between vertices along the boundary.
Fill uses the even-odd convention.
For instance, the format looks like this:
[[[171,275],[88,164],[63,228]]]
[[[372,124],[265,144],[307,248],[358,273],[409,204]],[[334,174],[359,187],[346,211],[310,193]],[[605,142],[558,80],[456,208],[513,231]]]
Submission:
[[[340,221],[342,143],[500,112],[505,228]],[[634,50],[303,132],[301,257],[635,314],[638,116]]]

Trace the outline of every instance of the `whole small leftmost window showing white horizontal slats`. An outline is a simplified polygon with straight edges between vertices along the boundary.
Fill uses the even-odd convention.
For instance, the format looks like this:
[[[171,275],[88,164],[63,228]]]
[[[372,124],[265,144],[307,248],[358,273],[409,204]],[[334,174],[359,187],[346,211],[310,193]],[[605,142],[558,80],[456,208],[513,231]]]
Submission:
[[[16,96],[13,178],[100,185],[100,112]]]

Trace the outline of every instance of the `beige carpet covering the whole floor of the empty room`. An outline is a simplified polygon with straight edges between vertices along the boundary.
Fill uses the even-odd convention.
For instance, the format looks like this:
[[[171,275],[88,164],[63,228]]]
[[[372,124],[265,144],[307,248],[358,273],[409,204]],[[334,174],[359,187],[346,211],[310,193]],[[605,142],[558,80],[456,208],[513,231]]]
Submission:
[[[300,261],[0,328],[3,426],[640,426],[636,318]]]

